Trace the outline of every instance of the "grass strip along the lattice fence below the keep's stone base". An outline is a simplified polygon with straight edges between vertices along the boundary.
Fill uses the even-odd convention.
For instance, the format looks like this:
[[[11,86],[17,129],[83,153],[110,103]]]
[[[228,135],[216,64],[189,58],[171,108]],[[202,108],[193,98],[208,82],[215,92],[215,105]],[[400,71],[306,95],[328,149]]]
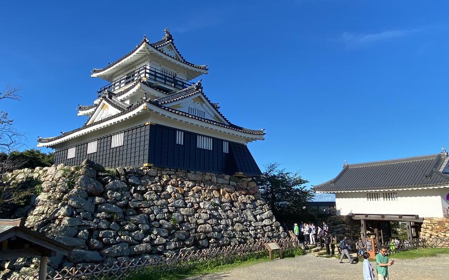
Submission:
[[[290,251],[284,255],[284,257],[295,257],[296,255],[302,255],[302,250]],[[276,258],[276,254],[274,258]],[[197,263],[194,266],[186,269],[179,269],[170,272],[157,272],[153,269],[148,269],[142,271],[141,274],[128,277],[127,280],[181,280],[187,277],[196,276],[196,275],[205,275],[211,274],[215,272],[223,272],[228,271],[234,267],[246,267],[254,264],[258,264],[261,262],[269,261],[267,255],[263,255],[261,257],[254,257],[244,261],[240,261],[238,259],[234,260],[232,263],[218,263],[216,261],[206,261]]]

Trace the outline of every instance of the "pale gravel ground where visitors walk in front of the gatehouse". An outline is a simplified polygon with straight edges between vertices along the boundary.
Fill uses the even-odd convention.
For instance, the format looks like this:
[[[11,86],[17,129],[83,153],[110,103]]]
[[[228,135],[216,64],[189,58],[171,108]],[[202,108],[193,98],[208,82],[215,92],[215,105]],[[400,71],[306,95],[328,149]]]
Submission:
[[[339,263],[338,259],[315,257],[311,254],[295,258],[267,261],[248,267],[237,267],[229,271],[187,278],[189,280],[363,280],[362,262]],[[374,263],[373,267],[375,270]],[[448,280],[449,255],[419,259],[398,259],[389,267],[390,280]]]

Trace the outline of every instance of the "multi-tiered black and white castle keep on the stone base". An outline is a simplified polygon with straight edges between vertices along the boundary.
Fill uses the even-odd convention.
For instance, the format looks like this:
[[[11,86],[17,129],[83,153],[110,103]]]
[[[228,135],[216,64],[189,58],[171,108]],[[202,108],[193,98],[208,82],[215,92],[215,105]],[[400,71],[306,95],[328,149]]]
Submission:
[[[55,164],[84,159],[105,167],[154,166],[237,176],[261,174],[247,143],[263,130],[232,124],[204,94],[205,65],[181,55],[169,31],[154,43],[144,37],[131,52],[92,77],[108,82],[93,105],[79,105],[86,123],[56,137],[39,138],[55,149]]]

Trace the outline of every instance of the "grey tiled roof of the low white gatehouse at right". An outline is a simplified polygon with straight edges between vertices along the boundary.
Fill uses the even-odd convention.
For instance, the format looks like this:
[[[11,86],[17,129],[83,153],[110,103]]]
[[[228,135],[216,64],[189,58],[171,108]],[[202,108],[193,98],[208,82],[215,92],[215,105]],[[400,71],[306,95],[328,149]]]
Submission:
[[[345,164],[332,180],[313,187],[318,192],[386,190],[434,187],[449,184],[439,171],[446,152],[403,159]]]

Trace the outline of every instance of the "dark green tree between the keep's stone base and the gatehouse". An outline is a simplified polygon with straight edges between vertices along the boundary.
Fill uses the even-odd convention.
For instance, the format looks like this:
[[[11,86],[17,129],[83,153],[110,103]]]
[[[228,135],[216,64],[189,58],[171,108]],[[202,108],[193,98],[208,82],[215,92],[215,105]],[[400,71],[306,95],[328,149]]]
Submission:
[[[306,188],[307,182],[299,173],[279,169],[278,163],[267,164],[265,172],[257,179],[262,198],[281,223],[299,222],[309,216],[306,205],[314,193]]]

